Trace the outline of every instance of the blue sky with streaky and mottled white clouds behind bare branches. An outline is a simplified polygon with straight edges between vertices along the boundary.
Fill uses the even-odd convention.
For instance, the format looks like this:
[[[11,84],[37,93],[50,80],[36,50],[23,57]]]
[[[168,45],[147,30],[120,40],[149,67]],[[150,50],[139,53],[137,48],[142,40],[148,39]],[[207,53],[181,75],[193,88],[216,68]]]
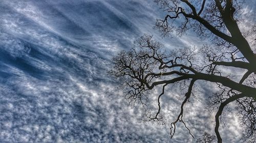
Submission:
[[[198,110],[207,87],[185,108],[196,139],[181,124],[170,139],[168,124],[141,123],[140,106],[127,105],[106,74],[111,58],[144,33],[167,49],[202,44],[192,32],[161,38],[153,26],[163,16],[150,0],[0,1],[0,142],[196,142],[213,134],[214,115]],[[172,122],[182,100],[167,92],[164,101]],[[224,140],[239,141],[237,119],[226,118]]]

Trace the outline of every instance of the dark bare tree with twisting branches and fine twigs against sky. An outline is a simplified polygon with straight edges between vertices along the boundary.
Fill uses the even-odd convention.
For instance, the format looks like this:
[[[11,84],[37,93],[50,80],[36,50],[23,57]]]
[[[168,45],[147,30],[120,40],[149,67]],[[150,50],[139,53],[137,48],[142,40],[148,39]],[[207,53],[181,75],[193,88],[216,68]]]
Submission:
[[[255,108],[256,88],[254,87],[256,81],[254,81],[254,83],[245,81],[250,80],[250,75],[253,73],[256,74],[256,54],[253,53],[250,44],[242,35],[237,19],[234,19],[237,14],[236,12],[240,9],[239,4],[233,4],[232,0],[197,1],[198,3],[200,2],[201,5],[199,11],[197,11],[198,7],[193,5],[195,1],[155,1],[161,6],[161,9],[168,12],[163,20],[157,20],[156,23],[156,27],[164,36],[168,35],[168,33],[172,33],[172,26],[175,26],[172,25],[172,23],[168,23],[169,19],[176,20],[185,17],[185,21],[176,30],[178,35],[182,35],[186,30],[194,28],[197,34],[202,35],[201,37],[211,34],[212,37],[209,37],[212,40],[211,44],[217,47],[212,46],[212,48],[215,49],[212,50],[213,53],[209,53],[211,50],[208,50],[207,47],[205,51],[201,52],[204,54],[200,54],[200,52],[195,53],[195,51],[189,49],[188,51],[176,50],[170,53],[164,53],[161,51],[163,45],[152,40],[152,36],[144,35],[144,37],[137,40],[138,51],[133,49],[129,52],[121,52],[117,58],[114,59],[115,69],[110,73],[123,84],[123,89],[128,89],[126,96],[128,96],[129,99],[134,99],[135,101],[139,99],[141,103],[142,97],[146,96],[145,93],[148,94],[147,91],[153,90],[157,85],[164,84],[162,93],[157,98],[158,111],[156,112],[156,116],[153,116],[153,118],[150,116],[150,120],[148,121],[160,121],[160,118],[158,118],[161,110],[160,98],[164,94],[164,88],[168,84],[179,83],[181,81],[185,83],[187,80],[191,80],[187,87],[185,99],[181,103],[180,114],[177,120],[171,124],[171,137],[174,136],[176,123],[178,121],[182,122],[187,128],[182,120],[183,106],[190,98],[194,82],[196,80],[204,80],[217,83],[220,94],[214,95],[216,101],[212,101],[212,104],[214,104],[214,107],[219,106],[215,116],[215,132],[218,142],[222,142],[219,133],[219,118],[222,115],[224,107],[235,100],[240,103],[238,106],[242,106],[243,103],[246,102],[240,100],[248,98],[251,100],[248,107],[250,107],[250,109]],[[182,3],[182,5],[180,5],[180,3]],[[227,51],[219,53],[221,52],[221,48]],[[237,53],[242,53],[243,56],[241,57],[241,55]],[[231,57],[227,58],[227,54],[228,56],[231,54]],[[195,57],[197,55],[204,55],[206,60],[196,61],[195,59],[197,58]],[[247,72],[239,82],[236,82],[231,80],[230,76],[223,76],[225,74],[222,74],[223,71],[220,70],[221,66],[225,66],[226,68],[246,69]],[[171,78],[166,79],[164,77]],[[254,78],[254,80],[256,79]],[[144,105],[144,103],[142,104]],[[249,112],[245,107],[246,106],[240,108],[242,110],[240,113],[244,116],[244,119],[248,118],[246,113],[253,115],[251,110],[249,110]],[[243,110],[246,110],[245,113]],[[253,118],[249,118],[248,121],[252,119]],[[253,130],[256,128],[254,127],[256,126],[255,124],[254,122],[248,124],[251,131],[248,131],[246,135],[247,138],[250,136],[256,138],[256,133]],[[190,133],[189,129],[188,131]]]

